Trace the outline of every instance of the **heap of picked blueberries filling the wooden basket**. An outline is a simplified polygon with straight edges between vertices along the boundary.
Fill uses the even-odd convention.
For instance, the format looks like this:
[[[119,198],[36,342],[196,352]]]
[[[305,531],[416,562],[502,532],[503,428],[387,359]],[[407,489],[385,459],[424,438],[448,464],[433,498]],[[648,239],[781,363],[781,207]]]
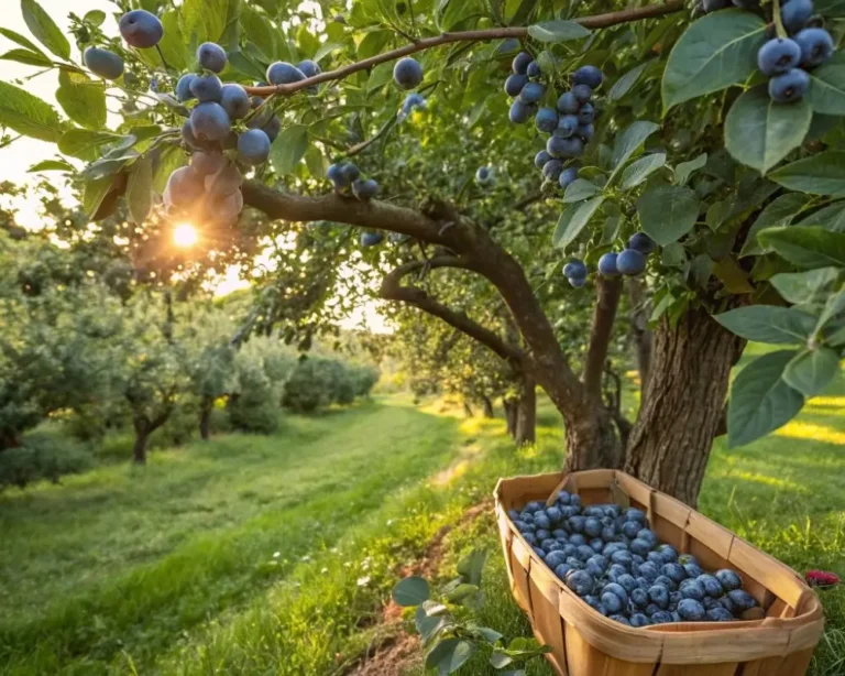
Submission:
[[[579,495],[561,491],[551,506],[529,502],[508,516],[567,587],[622,624],[729,622],[759,615],[757,601],[743,590],[736,571],[710,575],[694,556],[660,544],[641,510],[582,506]]]

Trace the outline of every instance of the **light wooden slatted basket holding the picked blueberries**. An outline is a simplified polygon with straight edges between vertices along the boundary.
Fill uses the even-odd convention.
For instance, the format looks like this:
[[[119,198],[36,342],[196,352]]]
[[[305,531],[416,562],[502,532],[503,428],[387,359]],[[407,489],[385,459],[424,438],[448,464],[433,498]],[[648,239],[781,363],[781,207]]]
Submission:
[[[546,566],[507,511],[558,491],[584,505],[617,503],[648,514],[663,543],[694,555],[705,570],[733,568],[766,611],[748,622],[687,622],[634,629],[593,610]],[[500,479],[496,520],[511,589],[537,639],[566,676],[802,676],[822,635],[815,592],[791,568],[691,508],[616,470]]]

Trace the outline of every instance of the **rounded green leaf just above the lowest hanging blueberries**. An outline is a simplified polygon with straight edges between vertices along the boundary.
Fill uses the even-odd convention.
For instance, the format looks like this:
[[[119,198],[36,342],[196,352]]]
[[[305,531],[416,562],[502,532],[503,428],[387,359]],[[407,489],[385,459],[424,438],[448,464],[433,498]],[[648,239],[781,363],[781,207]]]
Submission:
[[[699,198],[685,186],[659,185],[637,199],[639,225],[661,247],[678,241],[699,218]]]

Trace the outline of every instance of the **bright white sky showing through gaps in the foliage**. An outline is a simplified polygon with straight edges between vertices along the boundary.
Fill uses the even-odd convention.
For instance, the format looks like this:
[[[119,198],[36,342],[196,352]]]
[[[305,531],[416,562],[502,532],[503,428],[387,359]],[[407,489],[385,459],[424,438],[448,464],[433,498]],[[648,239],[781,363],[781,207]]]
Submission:
[[[117,10],[117,6],[107,0],[73,0],[73,2],[69,0],[39,0],[39,2],[65,34],[67,34],[70,25],[68,19],[68,13],[70,11],[78,17],[83,17],[90,10],[105,11],[107,19],[102,25],[103,32],[107,34],[117,34],[117,21],[112,15]],[[17,0],[0,0],[0,6],[2,6],[2,9],[4,10],[2,15],[0,15],[0,25],[32,39],[32,35],[23,21],[20,3]],[[33,40],[33,42],[37,44],[36,40]],[[70,39],[69,42],[72,48],[76,51],[73,39]],[[15,47],[18,47],[17,44],[0,36],[0,53]],[[76,61],[78,61],[78,57],[79,55],[74,53],[74,58]],[[0,78],[7,81],[26,77],[37,70],[33,66],[26,66],[9,61],[0,62],[0,64],[2,64]],[[55,98],[55,91],[58,87],[58,73],[56,70],[40,75],[28,80],[22,86],[30,92],[59,109]],[[26,170],[42,160],[47,160],[56,155],[57,149],[55,145],[35,139],[21,138],[12,145],[0,149],[0,181],[11,181],[13,183],[32,181],[33,175],[28,174]],[[50,176],[50,174],[46,175]],[[70,199],[69,192],[66,198]],[[21,225],[33,229],[40,227],[41,218],[37,212],[39,203],[36,199],[33,198],[31,200],[21,201],[15,206],[19,208],[18,218]],[[224,279],[217,285],[216,291],[218,294],[222,295],[248,285],[249,283],[246,281],[239,277],[238,271],[231,269],[227,275],[224,275]],[[355,308],[341,324],[344,328],[360,327],[363,325],[370,330],[377,332],[389,330],[384,323],[384,318],[378,313],[377,305],[374,303],[367,303]]]

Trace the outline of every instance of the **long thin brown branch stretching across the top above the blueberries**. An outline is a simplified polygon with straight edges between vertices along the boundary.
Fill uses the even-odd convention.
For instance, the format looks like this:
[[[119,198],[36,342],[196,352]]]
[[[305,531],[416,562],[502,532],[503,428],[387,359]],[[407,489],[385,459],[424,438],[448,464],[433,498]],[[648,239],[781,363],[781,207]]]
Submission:
[[[606,29],[619,23],[629,23],[632,21],[640,21],[643,19],[652,19],[655,17],[663,17],[665,14],[671,14],[672,12],[679,12],[683,9],[683,0],[669,0],[665,4],[649,4],[646,7],[635,7],[618,12],[607,12],[605,14],[595,14],[593,17],[581,17],[580,19],[573,19],[575,23],[580,23],[586,29]],[[424,50],[430,50],[432,47],[439,47],[445,44],[451,44],[453,42],[485,42],[490,40],[502,40],[506,37],[527,37],[528,29],[525,26],[512,26],[500,29],[487,29],[483,31],[460,31],[454,33],[442,33],[434,37],[424,37],[416,42],[399,47],[398,50],[392,50],[384,54],[377,54],[359,61],[356,63],[343,66],[337,70],[327,70],[320,73],[314,77],[300,80],[298,83],[292,83],[289,85],[276,85],[268,87],[245,87],[250,96],[270,96],[272,94],[281,94],[283,96],[290,96],[301,89],[319,85],[321,83],[328,83],[330,80],[343,79],[344,77],[358,73],[359,70],[367,70],[373,66],[383,64],[389,61],[408,56],[416,52],[422,52]]]

